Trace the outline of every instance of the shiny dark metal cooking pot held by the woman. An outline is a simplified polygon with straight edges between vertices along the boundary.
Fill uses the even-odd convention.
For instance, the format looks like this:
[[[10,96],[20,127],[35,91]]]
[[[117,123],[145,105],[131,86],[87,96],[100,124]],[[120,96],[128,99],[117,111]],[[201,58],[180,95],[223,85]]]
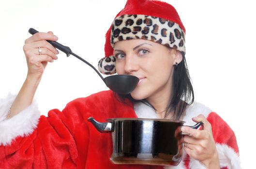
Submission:
[[[88,120],[100,132],[113,132],[113,154],[115,164],[147,164],[177,166],[181,162],[185,123],[178,120],[112,118],[100,123]],[[192,128],[198,128],[199,122]]]

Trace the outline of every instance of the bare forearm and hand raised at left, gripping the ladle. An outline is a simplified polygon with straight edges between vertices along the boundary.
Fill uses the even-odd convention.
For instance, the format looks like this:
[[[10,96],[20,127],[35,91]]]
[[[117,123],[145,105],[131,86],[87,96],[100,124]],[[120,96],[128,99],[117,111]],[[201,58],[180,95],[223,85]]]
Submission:
[[[47,63],[58,59],[56,55],[59,52],[46,40],[57,41],[58,37],[49,31],[47,33],[35,33],[26,39],[23,50],[27,59],[28,75],[11,106],[12,109],[10,108],[7,118],[11,118],[30,106]],[[42,50],[41,55],[39,47]]]

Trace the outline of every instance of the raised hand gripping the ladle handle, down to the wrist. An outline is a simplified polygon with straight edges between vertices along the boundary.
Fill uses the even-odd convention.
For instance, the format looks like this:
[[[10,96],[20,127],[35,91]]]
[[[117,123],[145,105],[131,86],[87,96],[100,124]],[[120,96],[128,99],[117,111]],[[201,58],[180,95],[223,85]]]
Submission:
[[[47,63],[58,59],[56,55],[59,51],[46,40],[57,41],[58,37],[51,31],[38,32],[25,41],[23,50],[27,59],[29,77],[41,78]],[[42,50],[41,55],[39,47]]]

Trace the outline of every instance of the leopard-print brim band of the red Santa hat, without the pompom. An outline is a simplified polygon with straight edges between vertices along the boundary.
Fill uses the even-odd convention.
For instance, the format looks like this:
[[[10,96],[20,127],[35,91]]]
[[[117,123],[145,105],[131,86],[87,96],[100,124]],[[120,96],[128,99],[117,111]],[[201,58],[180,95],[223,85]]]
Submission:
[[[111,46],[123,40],[144,39],[185,53],[185,34],[181,27],[166,19],[142,14],[121,15],[111,28]]]

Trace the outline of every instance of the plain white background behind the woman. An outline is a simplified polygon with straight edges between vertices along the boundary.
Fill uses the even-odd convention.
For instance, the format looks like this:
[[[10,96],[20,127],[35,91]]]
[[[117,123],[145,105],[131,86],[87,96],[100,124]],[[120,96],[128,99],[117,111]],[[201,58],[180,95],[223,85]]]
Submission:
[[[196,101],[209,106],[237,136],[244,169],[255,151],[255,4],[253,0],[166,0],[186,28],[187,63]],[[1,0],[0,97],[16,94],[27,65],[23,54],[29,28],[53,31],[60,43],[97,67],[105,32],[126,0]],[[89,66],[60,53],[49,63],[35,98],[42,114],[107,90]],[[200,113],[200,112],[198,112]]]

